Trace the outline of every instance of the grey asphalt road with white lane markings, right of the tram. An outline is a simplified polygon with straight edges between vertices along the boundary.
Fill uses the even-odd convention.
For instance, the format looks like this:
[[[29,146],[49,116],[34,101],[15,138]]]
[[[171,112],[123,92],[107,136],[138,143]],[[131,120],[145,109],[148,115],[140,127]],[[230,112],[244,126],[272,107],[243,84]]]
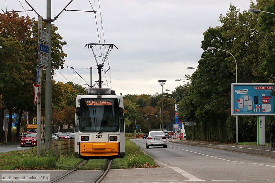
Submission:
[[[144,139],[132,139],[161,168],[110,170],[104,182],[274,182],[275,159],[169,140],[168,148],[145,148]],[[222,146],[221,146],[222,147]],[[251,149],[252,150],[252,149]]]

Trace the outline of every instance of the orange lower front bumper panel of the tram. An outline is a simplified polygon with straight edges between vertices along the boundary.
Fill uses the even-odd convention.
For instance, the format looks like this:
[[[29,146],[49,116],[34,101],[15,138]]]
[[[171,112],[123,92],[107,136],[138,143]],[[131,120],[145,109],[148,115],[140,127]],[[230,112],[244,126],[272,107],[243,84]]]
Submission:
[[[119,142],[79,142],[81,156],[117,156]]]

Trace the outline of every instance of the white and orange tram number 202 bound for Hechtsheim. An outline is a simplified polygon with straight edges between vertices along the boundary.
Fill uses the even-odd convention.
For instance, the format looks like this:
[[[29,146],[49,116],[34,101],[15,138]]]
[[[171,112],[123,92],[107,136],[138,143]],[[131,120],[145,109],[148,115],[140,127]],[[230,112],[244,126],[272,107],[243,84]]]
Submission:
[[[122,94],[109,88],[89,88],[77,95],[75,109],[75,155],[107,157],[125,155]]]

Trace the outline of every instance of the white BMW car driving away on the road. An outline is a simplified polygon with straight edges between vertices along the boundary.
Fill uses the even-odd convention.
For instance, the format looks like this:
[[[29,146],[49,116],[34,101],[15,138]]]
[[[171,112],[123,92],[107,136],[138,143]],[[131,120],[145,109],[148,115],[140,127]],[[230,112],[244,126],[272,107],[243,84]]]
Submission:
[[[148,137],[145,139],[145,145],[149,146],[163,146],[167,148],[167,139],[163,131],[149,131]]]

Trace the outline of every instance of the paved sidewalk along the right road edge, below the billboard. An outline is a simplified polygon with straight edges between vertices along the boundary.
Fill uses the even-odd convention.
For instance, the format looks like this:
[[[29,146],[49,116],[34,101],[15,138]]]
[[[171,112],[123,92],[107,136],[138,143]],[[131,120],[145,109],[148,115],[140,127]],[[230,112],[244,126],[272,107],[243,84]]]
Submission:
[[[169,139],[168,142],[275,158],[275,150],[271,150],[270,145],[221,144],[217,142],[186,140],[185,138],[182,138],[181,140],[179,138]]]

